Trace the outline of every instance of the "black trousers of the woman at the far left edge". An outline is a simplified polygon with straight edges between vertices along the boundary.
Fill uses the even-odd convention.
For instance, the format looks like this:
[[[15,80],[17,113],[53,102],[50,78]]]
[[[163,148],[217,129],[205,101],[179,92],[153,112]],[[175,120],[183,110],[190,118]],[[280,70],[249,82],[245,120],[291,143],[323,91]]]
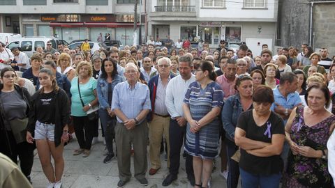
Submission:
[[[6,132],[8,137],[6,136],[4,130],[1,131],[0,152],[12,159],[15,164],[17,164],[17,156],[19,156],[21,171],[27,177],[30,175],[31,168],[33,167],[34,163],[34,149],[36,147],[35,143],[27,143],[27,141],[16,143],[13,132]]]

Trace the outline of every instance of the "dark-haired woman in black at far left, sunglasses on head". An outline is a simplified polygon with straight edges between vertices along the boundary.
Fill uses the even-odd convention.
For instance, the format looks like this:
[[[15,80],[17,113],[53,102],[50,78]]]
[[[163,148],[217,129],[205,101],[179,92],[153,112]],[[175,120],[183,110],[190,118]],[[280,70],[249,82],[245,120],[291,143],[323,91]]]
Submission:
[[[31,182],[30,173],[34,162],[34,146],[25,140],[25,132],[31,111],[31,97],[25,88],[15,85],[15,70],[3,68],[0,84],[0,152],[17,164],[20,159],[22,173]],[[22,120],[21,131],[15,134],[15,120]],[[15,124],[15,125],[14,125]],[[23,131],[23,132],[22,132]]]

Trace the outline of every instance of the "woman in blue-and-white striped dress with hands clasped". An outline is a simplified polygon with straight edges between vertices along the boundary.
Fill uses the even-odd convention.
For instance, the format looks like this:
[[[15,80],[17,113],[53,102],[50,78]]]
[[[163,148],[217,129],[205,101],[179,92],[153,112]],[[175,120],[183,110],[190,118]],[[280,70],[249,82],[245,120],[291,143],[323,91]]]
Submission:
[[[196,81],[188,86],[183,105],[188,121],[185,150],[193,156],[195,187],[207,187],[213,159],[218,155],[218,115],[223,105],[223,91],[215,82],[213,69],[209,61],[195,64]]]

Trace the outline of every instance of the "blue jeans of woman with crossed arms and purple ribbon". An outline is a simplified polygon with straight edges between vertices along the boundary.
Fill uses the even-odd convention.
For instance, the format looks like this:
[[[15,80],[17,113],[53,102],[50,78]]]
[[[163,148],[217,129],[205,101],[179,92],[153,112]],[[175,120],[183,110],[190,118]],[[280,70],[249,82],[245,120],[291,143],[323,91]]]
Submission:
[[[239,168],[243,188],[278,188],[281,182],[281,173],[271,175],[253,174]]]

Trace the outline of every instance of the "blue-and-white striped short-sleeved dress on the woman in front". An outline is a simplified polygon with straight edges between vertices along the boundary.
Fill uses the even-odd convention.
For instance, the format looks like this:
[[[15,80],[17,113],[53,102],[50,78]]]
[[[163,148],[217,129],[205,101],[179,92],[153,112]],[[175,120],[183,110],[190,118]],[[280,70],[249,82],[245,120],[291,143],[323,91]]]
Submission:
[[[202,89],[200,84],[195,81],[185,94],[184,102],[188,104],[193,120],[200,120],[206,116],[214,107],[223,106],[223,91],[215,82],[207,84]],[[214,159],[218,155],[220,121],[218,117],[211,123],[204,125],[197,133],[190,131],[190,125],[186,127],[185,150],[192,156],[202,157],[202,159]]]

